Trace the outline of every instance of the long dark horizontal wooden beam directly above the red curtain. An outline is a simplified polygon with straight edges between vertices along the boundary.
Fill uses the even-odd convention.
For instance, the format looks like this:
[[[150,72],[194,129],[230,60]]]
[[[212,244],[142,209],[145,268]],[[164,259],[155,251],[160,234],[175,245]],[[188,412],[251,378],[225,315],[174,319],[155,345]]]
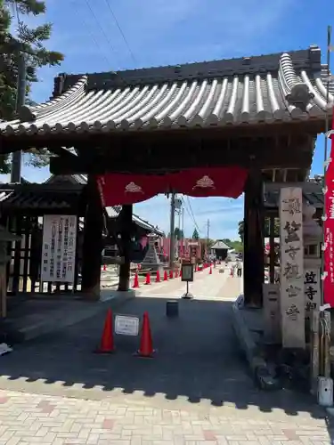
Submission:
[[[262,149],[262,150],[260,150]],[[104,156],[103,156],[104,155]],[[214,145],[182,147],[170,150],[123,150],[121,153],[98,153],[91,150],[86,156],[51,158],[52,174],[105,174],[130,172],[137,174],[183,170],[196,166],[257,166],[264,168],[309,168],[312,152],[301,148],[294,150],[269,146],[248,146],[248,150],[229,149]]]

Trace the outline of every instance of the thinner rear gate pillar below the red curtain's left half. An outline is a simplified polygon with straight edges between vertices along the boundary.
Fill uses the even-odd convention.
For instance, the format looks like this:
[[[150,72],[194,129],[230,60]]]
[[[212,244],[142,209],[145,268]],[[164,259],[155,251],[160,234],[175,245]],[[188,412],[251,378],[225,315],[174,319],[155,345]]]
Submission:
[[[130,264],[131,264],[131,235],[132,235],[132,205],[122,206],[120,214],[120,245],[122,263],[119,267],[118,290],[126,292],[130,287]]]

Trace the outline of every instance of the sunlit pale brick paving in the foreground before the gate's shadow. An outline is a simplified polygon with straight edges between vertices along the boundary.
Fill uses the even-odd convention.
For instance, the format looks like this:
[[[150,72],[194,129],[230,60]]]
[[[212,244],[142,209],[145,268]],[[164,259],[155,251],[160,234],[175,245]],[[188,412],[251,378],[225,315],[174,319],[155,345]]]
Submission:
[[[175,409],[173,403],[158,409],[1,391],[0,444],[330,444],[324,420],[276,414]]]

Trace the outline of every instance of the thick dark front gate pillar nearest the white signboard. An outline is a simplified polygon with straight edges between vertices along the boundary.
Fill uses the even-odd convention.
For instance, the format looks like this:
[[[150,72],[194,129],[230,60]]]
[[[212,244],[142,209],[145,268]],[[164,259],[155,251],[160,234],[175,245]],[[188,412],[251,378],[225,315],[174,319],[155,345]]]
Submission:
[[[82,291],[90,300],[100,299],[103,208],[94,175],[88,174],[87,205],[82,255]]]

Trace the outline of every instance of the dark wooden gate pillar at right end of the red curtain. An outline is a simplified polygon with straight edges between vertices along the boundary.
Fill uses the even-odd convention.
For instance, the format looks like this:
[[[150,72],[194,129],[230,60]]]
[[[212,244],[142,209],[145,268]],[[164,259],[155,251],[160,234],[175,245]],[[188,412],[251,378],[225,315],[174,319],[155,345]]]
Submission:
[[[265,278],[263,182],[260,170],[251,170],[245,189],[244,297],[245,304],[262,305]]]

